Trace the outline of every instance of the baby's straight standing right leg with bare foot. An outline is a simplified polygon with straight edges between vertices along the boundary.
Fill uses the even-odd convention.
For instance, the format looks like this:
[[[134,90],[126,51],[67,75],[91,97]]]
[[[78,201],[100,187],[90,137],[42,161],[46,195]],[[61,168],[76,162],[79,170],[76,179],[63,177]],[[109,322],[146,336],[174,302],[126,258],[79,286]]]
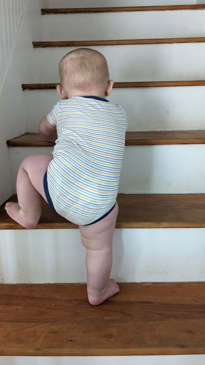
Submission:
[[[90,226],[79,226],[86,247],[87,292],[90,304],[97,306],[119,292],[110,273],[113,263],[113,234],[118,215],[116,203],[111,213]]]

